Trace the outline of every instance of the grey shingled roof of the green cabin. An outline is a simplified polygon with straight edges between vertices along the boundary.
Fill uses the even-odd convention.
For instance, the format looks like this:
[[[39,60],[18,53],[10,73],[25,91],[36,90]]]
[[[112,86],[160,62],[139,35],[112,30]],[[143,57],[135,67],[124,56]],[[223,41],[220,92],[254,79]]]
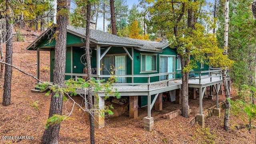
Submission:
[[[44,33],[42,33],[32,44],[27,47],[27,50],[35,49],[38,43],[40,43],[44,35],[50,32],[53,27],[48,28]],[[76,27],[76,26],[67,26],[67,32],[85,38],[86,28]],[[153,42],[149,40],[138,40],[133,38],[124,38],[109,34],[101,30],[90,31],[91,41],[96,44],[111,44],[117,46],[134,46],[136,49],[141,51],[158,51],[161,52],[163,48],[168,46],[168,42]]]

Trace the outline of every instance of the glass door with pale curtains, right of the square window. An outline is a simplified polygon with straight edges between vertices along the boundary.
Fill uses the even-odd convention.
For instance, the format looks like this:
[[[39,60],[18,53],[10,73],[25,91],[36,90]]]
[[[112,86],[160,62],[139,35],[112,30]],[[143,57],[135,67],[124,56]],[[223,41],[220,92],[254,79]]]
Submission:
[[[175,56],[160,56],[160,73],[174,72]],[[173,79],[174,74],[169,74],[168,80]],[[167,80],[167,75],[160,76],[160,80]]]

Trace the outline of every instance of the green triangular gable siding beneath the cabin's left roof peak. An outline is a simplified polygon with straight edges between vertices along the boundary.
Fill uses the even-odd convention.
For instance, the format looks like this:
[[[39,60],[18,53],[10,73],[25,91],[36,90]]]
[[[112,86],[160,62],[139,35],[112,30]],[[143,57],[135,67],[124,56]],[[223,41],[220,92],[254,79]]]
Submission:
[[[40,47],[45,47],[45,46],[55,46],[55,39],[52,39],[52,42],[49,43],[49,38],[46,38],[42,43],[38,45],[38,48]],[[85,42],[83,40],[83,42]],[[76,36],[74,34],[70,34],[67,32],[67,45],[68,44],[78,44],[78,43],[83,43],[81,41],[81,38],[79,36]]]

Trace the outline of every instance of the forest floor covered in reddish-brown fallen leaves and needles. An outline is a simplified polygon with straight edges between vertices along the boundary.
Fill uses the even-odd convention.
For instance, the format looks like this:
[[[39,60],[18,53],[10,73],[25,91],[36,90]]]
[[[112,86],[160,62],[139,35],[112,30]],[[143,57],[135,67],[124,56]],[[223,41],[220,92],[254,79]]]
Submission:
[[[25,33],[26,31],[22,31]],[[39,32],[34,32],[39,35]],[[32,41],[32,38],[25,38]],[[28,51],[30,42],[13,43],[13,64],[22,70],[36,75],[36,51]],[[49,81],[50,54],[40,52],[41,80]],[[4,78],[0,78],[0,102],[2,103]],[[33,136],[33,140],[0,140],[0,144],[38,144],[44,132],[50,107],[50,96],[44,93],[30,92],[36,80],[13,69],[10,106],[0,104],[0,136]],[[236,91],[232,90],[232,96]],[[224,98],[224,96],[220,96]],[[81,98],[75,96],[77,102]],[[33,107],[37,103],[38,110]],[[82,102],[81,102],[82,103]],[[164,102],[164,109],[168,103]],[[170,105],[169,105],[170,106]],[[64,102],[63,113],[71,110],[72,104]],[[199,107],[199,104],[198,104]],[[246,124],[242,114],[230,116],[230,131],[223,129],[224,111],[221,116],[206,119],[205,128],[198,124],[190,126],[191,118],[178,116],[172,120],[162,118],[162,112],[152,111],[154,129],[148,132],[143,129],[143,117],[146,108],[139,108],[137,119],[129,118],[128,112],[119,117],[106,118],[105,127],[96,129],[97,144],[255,144],[255,129],[249,132],[246,128],[237,130],[235,125]],[[192,114],[193,116],[193,114]],[[71,118],[62,122],[59,134],[60,144],[84,144],[90,142],[88,114],[75,106]]]

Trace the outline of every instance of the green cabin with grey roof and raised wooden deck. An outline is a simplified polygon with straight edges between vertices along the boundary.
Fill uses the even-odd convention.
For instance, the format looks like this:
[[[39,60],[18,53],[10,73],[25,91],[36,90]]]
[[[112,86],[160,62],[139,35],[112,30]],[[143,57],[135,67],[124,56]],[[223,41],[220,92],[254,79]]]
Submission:
[[[48,28],[27,50],[37,50],[37,77],[40,78],[40,51],[50,52],[50,81],[53,80],[54,69],[54,48],[55,40],[54,27]],[[65,79],[86,76],[85,62],[85,33],[86,29],[75,26],[67,26],[67,49],[66,49],[66,73]],[[163,92],[172,93],[174,101],[181,102],[181,64],[180,56],[176,49],[171,48],[166,41],[152,42],[132,38],[115,36],[101,30],[90,32],[91,66],[92,77],[96,79],[108,79],[110,71],[114,69],[117,83],[114,87],[118,89],[120,96],[130,97],[130,117],[138,116],[138,106],[148,105],[148,117],[145,118],[144,128],[152,130],[151,109],[154,104],[161,109]],[[201,72],[204,71],[204,72]],[[208,65],[198,63],[194,69],[199,78],[190,79],[189,87],[200,89],[201,95],[207,86],[215,86],[222,79],[220,70],[209,70]],[[212,76],[216,74],[216,76]],[[204,75],[209,76],[206,80]],[[201,77],[202,76],[202,77]],[[218,89],[217,86],[217,89]],[[176,90],[176,92],[173,92]],[[95,94],[94,94],[95,95]],[[99,103],[103,102],[104,94],[98,93]],[[200,112],[202,115],[202,100]],[[98,118],[99,127],[104,126],[104,118]],[[145,127],[146,126],[146,127]]]

